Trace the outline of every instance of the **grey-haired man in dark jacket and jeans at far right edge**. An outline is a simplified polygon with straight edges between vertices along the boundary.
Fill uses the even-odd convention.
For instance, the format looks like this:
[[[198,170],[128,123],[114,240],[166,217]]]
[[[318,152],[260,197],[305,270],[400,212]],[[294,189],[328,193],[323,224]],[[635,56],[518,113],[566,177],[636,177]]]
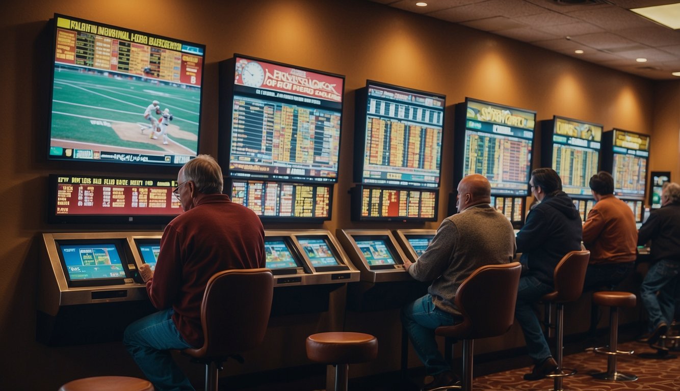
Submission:
[[[680,185],[665,183],[661,204],[638,232],[639,245],[651,240],[653,265],[640,286],[640,299],[649,318],[649,345],[668,331],[675,312],[674,291],[680,269]]]

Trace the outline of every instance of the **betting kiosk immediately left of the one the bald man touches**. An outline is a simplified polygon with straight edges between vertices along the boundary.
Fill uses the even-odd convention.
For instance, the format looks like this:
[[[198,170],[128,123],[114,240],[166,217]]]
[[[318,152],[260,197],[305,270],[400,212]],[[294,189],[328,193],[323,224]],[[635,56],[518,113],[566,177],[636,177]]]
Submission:
[[[404,269],[407,255],[389,229],[338,229],[337,237],[361,272],[359,284],[347,289],[350,310],[401,308],[426,293],[427,285]]]

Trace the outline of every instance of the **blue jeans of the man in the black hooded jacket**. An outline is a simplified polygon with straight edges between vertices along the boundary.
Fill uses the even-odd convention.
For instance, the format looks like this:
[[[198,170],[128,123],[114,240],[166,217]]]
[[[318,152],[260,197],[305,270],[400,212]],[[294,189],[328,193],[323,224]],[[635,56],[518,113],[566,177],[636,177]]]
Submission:
[[[515,319],[520,323],[526,341],[526,350],[534,362],[539,363],[551,356],[550,348],[543,335],[541,323],[534,312],[534,305],[546,293],[552,292],[552,286],[539,281],[534,276],[522,276],[517,289]]]

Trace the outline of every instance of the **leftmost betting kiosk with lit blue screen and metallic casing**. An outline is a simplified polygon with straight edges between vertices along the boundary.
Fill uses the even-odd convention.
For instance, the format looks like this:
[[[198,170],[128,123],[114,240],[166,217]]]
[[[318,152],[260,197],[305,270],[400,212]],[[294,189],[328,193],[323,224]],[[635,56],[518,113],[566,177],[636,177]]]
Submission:
[[[130,245],[132,237],[147,235],[43,234],[37,339],[49,345],[113,341],[127,324],[150,314]]]

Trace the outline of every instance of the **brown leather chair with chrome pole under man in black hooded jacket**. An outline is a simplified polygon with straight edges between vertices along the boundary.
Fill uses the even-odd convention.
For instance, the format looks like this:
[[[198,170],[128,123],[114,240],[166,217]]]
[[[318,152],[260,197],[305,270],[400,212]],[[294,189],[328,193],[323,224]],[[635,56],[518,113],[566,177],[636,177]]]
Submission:
[[[562,338],[564,337],[564,303],[568,301],[576,301],[583,293],[583,280],[585,280],[585,270],[588,269],[588,261],[590,260],[590,251],[571,251],[566,253],[560,262],[555,267],[553,274],[555,290],[547,295],[544,295],[542,300],[544,303],[555,303],[556,306],[556,320],[555,332],[557,347],[555,350],[555,358],[558,368],[556,373],[547,375],[553,377],[555,382],[554,391],[562,390],[562,377],[576,374],[575,369],[562,368]],[[565,372],[566,371],[566,372]]]

